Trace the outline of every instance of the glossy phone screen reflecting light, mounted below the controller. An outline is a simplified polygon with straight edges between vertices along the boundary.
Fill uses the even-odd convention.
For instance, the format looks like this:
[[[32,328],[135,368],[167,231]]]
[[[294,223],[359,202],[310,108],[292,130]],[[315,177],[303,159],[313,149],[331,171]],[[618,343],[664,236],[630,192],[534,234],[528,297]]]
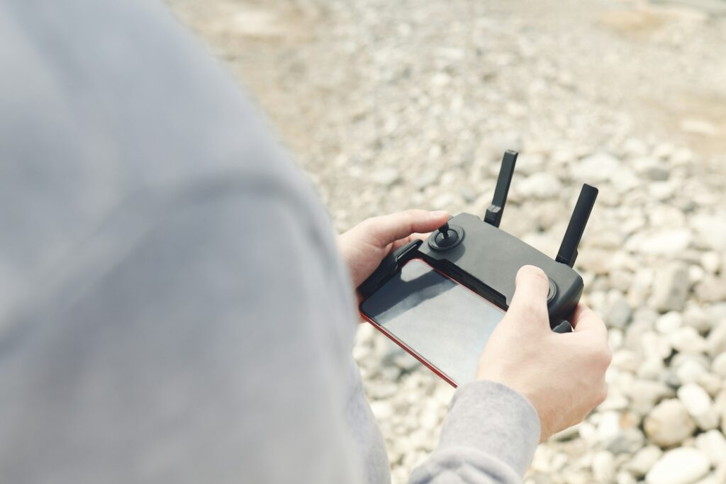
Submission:
[[[456,385],[473,381],[505,313],[420,259],[406,263],[361,312]]]

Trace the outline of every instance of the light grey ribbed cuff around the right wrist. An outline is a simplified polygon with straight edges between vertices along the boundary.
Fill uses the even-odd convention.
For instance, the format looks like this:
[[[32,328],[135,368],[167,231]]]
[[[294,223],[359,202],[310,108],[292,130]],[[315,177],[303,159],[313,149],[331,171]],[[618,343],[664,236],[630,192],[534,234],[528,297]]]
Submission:
[[[523,476],[540,433],[539,416],[526,397],[496,382],[471,382],[454,393],[439,448],[476,448]]]

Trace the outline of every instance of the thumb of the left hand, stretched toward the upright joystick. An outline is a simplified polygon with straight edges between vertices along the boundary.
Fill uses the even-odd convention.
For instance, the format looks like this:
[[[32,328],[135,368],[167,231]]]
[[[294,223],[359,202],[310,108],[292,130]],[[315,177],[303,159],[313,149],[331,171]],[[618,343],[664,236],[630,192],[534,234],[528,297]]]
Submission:
[[[449,218],[447,212],[428,210],[406,210],[387,216],[370,218],[365,231],[378,247],[386,247],[396,240],[411,234],[425,233],[438,229]]]

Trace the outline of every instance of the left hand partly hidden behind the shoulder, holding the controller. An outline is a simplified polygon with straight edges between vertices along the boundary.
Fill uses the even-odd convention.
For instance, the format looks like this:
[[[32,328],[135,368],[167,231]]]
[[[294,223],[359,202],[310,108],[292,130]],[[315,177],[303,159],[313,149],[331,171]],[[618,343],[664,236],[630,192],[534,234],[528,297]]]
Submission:
[[[449,219],[446,212],[406,210],[369,218],[338,236],[338,250],[358,287],[386,257],[413,239],[438,229]]]

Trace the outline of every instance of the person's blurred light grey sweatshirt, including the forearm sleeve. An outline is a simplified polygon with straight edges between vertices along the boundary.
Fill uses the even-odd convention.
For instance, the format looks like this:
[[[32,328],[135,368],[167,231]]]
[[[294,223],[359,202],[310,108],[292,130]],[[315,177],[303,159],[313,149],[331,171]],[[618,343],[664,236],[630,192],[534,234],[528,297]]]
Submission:
[[[0,2],[0,482],[385,483],[311,187],[163,5]],[[539,420],[457,390],[415,483],[515,483]]]

